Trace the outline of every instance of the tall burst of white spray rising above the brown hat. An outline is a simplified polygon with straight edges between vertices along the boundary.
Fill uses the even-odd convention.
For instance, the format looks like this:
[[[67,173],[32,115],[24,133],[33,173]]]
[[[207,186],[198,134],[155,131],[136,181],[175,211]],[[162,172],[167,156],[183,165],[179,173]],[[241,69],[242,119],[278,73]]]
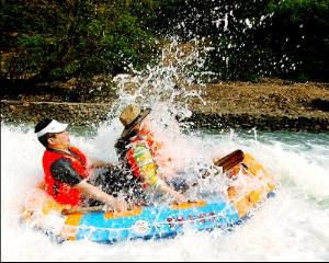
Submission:
[[[144,71],[131,66],[132,75],[114,78],[120,98],[111,108],[109,118],[116,117],[125,105],[132,103],[151,107],[154,115],[161,113],[163,125],[164,118],[170,119],[163,112],[181,117],[191,115],[188,104],[192,99],[205,103],[201,96],[203,83],[200,79],[201,76],[212,75],[203,71],[206,53],[207,48],[197,39],[185,44],[173,39],[163,48],[158,65],[148,66]]]

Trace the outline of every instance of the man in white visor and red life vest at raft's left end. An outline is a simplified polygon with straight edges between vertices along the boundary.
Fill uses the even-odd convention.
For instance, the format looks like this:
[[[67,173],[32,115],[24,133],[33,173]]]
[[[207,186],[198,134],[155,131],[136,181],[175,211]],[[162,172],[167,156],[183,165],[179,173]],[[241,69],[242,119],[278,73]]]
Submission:
[[[90,202],[88,205],[97,201],[114,210],[126,210],[126,202],[89,183],[91,170],[111,164],[101,160],[89,164],[86,155],[70,145],[67,126],[49,118],[42,119],[35,126],[37,139],[46,148],[43,156],[45,191],[63,205],[83,206],[86,201]]]

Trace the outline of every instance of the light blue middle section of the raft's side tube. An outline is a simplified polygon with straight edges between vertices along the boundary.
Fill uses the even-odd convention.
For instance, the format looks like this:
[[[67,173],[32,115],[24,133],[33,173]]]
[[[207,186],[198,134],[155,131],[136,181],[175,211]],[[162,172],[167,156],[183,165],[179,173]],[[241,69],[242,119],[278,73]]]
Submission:
[[[83,215],[78,226],[77,240],[114,243],[132,239],[158,239],[174,237],[185,227],[212,230],[239,224],[237,209],[223,198],[205,206],[171,209],[169,206],[144,207],[137,216],[106,219],[103,211]]]

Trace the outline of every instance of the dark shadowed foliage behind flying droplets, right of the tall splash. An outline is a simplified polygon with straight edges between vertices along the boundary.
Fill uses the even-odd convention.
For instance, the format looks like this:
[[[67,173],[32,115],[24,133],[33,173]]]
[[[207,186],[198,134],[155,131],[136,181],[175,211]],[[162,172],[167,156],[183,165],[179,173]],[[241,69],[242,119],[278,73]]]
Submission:
[[[206,67],[220,79],[328,81],[328,0],[166,0],[158,27],[181,41],[208,38]]]

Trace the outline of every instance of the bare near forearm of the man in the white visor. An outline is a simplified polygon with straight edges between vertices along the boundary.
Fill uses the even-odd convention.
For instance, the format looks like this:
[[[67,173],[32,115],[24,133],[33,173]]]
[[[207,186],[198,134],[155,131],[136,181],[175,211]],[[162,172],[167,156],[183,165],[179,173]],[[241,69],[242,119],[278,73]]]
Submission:
[[[112,195],[106,194],[102,190],[97,186],[93,186],[90,183],[87,183],[86,180],[82,180],[80,183],[76,185],[83,194],[93,199],[103,202],[104,204],[110,205],[112,208],[118,211],[124,211],[128,209],[127,203],[113,197]]]

